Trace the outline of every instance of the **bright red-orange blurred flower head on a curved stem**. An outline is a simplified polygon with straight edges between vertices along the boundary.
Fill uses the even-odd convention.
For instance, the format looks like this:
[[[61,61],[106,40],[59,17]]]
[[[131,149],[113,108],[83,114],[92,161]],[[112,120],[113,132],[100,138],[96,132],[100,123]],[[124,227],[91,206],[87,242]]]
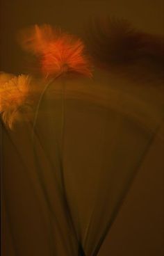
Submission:
[[[73,35],[54,30],[49,25],[35,25],[20,33],[19,40],[24,49],[40,58],[42,73],[47,77],[58,74],[92,77],[83,42]]]

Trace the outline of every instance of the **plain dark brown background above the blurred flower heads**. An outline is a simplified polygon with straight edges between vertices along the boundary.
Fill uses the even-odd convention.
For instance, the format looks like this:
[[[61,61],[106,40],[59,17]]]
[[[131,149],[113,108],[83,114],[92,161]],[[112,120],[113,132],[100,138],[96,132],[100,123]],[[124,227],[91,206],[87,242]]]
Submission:
[[[162,0],[1,0],[1,70],[24,71],[24,54],[15,40],[19,29],[48,23],[83,35],[90,19],[108,15],[128,19],[149,33],[163,33]]]

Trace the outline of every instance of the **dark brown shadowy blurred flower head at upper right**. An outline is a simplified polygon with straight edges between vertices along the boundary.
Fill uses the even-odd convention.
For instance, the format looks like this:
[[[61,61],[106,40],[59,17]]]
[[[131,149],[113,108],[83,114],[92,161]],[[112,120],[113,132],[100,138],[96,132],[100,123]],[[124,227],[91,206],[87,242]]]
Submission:
[[[139,79],[163,79],[164,38],[133,28],[125,19],[96,19],[86,44],[98,67]]]

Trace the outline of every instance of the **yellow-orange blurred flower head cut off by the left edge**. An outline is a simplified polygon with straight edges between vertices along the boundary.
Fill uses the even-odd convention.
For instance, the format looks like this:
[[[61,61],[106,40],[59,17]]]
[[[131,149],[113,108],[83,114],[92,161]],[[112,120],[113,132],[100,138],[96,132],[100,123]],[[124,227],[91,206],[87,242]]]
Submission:
[[[2,77],[3,76],[3,77]],[[4,81],[4,74],[0,75],[0,113],[5,125],[13,128],[13,122],[19,118],[19,113],[28,107],[29,83],[31,78],[27,75],[19,75]]]

